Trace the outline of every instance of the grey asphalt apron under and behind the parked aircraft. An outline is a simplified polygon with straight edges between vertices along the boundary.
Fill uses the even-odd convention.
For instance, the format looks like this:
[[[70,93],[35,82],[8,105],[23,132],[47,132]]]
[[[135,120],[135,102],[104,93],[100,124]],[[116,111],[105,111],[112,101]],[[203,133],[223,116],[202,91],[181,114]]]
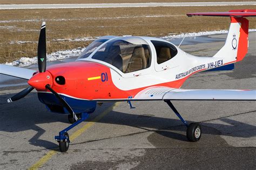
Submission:
[[[225,35],[211,37],[219,41],[181,49],[212,56]],[[256,32],[249,40],[247,56],[234,70],[194,74],[183,88],[256,89]],[[203,135],[198,142],[187,141],[186,127],[164,101],[133,102],[135,109],[127,103],[106,103],[69,132],[83,129],[69,151],[60,153],[53,138],[69,126],[66,115],[48,112],[35,91],[7,104],[21,89],[0,88],[0,169],[255,169],[255,101],[173,101],[188,123],[200,122]],[[89,123],[94,124],[86,128]]]

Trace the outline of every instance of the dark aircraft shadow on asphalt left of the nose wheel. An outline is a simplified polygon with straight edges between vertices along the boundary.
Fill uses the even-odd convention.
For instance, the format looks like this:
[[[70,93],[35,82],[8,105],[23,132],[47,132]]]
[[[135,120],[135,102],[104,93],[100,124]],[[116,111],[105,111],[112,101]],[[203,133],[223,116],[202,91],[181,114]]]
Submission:
[[[38,125],[55,122],[68,123],[67,115],[49,112],[40,103],[37,99],[37,94],[34,92],[19,101],[7,104],[6,100],[13,95],[0,96],[0,134],[1,131],[22,132],[33,130],[36,131],[36,134],[29,139],[31,145],[44,148],[58,147],[56,142],[39,139],[45,133],[45,130]],[[57,130],[56,134],[58,134]]]

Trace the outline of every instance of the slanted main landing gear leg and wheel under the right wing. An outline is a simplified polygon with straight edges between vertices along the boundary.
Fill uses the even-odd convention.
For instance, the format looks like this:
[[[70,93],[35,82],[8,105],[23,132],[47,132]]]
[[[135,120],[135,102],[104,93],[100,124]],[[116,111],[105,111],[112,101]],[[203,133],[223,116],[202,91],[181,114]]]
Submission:
[[[181,117],[177,109],[173,106],[170,100],[165,100],[165,102],[171,107],[172,111],[177,115],[177,117],[182,121],[182,123],[187,127],[187,140],[191,142],[196,142],[201,138],[201,126],[198,123],[191,123],[190,125]]]

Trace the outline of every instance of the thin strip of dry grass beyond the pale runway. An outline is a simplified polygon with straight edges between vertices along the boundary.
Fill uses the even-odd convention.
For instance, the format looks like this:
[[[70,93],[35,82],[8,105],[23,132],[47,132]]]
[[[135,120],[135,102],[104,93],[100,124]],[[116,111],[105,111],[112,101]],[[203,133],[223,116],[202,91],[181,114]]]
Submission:
[[[225,2],[253,0],[225,0]],[[220,0],[1,0],[0,4],[86,4],[86,3],[144,3],[144,2],[221,2]]]

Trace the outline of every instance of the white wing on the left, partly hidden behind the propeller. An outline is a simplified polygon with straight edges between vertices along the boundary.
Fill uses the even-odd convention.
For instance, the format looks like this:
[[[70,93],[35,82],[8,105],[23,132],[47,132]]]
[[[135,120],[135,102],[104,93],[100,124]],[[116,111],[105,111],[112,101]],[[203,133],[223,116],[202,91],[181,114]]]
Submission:
[[[15,67],[5,64],[0,64],[0,74],[5,74],[8,76],[18,77],[29,80],[33,73],[35,73],[35,70],[30,69],[24,69],[21,67]]]

